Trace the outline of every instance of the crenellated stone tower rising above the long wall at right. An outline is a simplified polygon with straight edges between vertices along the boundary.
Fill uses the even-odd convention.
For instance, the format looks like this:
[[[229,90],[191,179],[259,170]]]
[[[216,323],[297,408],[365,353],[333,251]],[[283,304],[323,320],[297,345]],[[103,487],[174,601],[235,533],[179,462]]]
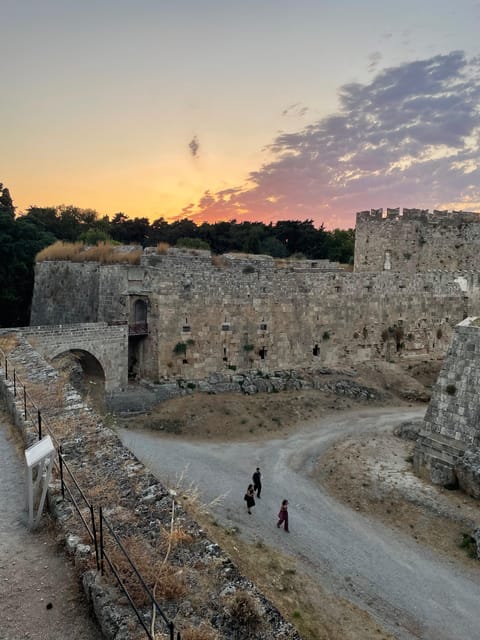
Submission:
[[[423,209],[357,213],[355,271],[462,271],[477,264],[480,214]]]

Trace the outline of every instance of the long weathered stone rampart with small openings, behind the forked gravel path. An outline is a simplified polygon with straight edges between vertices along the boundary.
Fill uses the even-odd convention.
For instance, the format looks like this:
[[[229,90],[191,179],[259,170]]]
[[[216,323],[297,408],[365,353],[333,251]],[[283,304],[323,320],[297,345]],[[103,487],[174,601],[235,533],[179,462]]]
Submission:
[[[52,283],[62,305],[49,302]],[[479,291],[472,271],[351,273],[325,261],[146,250],[138,266],[39,263],[31,323],[134,325],[140,307],[148,331],[130,339],[131,372],[202,379],[441,357],[453,327],[480,313]]]

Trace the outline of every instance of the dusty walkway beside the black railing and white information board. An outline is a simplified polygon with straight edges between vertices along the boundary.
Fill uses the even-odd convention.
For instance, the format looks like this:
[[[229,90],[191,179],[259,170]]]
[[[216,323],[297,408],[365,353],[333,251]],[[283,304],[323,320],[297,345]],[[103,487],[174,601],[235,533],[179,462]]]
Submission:
[[[23,443],[0,405],[0,640],[100,640],[54,530],[26,528]]]

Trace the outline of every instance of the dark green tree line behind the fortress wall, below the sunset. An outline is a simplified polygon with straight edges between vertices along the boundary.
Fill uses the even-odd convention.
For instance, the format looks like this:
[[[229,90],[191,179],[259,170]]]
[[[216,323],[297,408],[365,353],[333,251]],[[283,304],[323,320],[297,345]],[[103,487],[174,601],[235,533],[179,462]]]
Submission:
[[[28,325],[36,254],[57,240],[138,244],[208,249],[212,253],[242,252],[275,258],[353,261],[354,230],[325,231],[312,220],[263,222],[202,222],[161,217],[130,219],[116,213],[110,219],[94,209],[76,206],[29,207],[16,215],[9,190],[0,183],[0,326]]]

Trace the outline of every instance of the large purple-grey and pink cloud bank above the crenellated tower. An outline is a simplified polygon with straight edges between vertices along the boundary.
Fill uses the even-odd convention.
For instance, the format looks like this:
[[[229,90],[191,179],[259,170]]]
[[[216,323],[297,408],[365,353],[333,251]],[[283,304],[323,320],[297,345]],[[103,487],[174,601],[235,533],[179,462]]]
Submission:
[[[344,85],[339,99],[338,113],[279,134],[268,147],[272,161],[248,186],[207,193],[184,213],[308,217],[333,227],[352,225],[355,211],[370,207],[478,207],[478,59],[454,51],[384,69],[369,84]]]

